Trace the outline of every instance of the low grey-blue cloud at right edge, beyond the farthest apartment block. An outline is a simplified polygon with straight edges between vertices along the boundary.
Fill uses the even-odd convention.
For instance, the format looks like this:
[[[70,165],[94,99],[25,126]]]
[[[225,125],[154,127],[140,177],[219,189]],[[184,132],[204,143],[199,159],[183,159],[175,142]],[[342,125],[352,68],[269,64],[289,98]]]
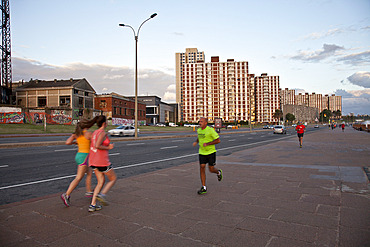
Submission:
[[[363,90],[343,90],[337,89],[335,95],[342,96],[342,113],[347,115],[370,114],[370,89]]]

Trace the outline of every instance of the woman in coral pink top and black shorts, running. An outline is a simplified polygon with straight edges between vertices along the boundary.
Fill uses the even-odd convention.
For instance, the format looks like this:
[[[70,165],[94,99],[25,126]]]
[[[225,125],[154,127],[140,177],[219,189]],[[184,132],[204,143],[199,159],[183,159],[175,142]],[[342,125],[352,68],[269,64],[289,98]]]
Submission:
[[[110,140],[105,133],[105,128],[107,127],[106,117],[98,116],[96,124],[99,129],[95,130],[91,137],[89,164],[94,170],[97,185],[94,189],[94,195],[91,200],[91,205],[89,206],[89,212],[101,209],[100,205],[96,205],[96,200],[100,201],[104,206],[108,205],[105,195],[117,180],[116,173],[114,172],[113,166],[108,157],[108,150],[113,149],[114,145],[110,143]],[[105,176],[107,176],[109,182],[103,188]]]

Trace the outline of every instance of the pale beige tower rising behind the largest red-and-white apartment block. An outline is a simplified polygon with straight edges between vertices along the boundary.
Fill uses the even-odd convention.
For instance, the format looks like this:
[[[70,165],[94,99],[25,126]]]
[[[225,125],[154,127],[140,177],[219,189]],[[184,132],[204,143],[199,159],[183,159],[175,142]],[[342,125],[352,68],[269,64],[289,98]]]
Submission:
[[[179,106],[178,120],[183,121],[183,67],[186,63],[205,61],[204,52],[198,52],[197,48],[186,48],[183,53],[176,53],[176,103]]]

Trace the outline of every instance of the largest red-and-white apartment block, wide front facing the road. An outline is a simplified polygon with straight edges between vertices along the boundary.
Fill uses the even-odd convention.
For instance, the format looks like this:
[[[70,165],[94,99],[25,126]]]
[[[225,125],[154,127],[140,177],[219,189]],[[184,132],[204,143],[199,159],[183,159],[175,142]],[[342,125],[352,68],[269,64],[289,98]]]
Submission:
[[[248,120],[251,110],[249,92],[251,79],[248,62],[228,59],[210,63],[184,63],[182,73],[183,121],[197,122],[200,117],[223,121]]]

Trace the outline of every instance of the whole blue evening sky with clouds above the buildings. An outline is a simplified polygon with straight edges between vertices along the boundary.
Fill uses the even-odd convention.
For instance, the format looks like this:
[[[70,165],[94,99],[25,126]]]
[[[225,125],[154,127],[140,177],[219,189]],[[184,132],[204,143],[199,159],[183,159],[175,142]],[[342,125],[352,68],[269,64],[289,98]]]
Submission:
[[[97,93],[175,102],[175,53],[197,48],[282,89],[342,96],[370,115],[370,0],[12,0],[13,81],[86,78]]]

